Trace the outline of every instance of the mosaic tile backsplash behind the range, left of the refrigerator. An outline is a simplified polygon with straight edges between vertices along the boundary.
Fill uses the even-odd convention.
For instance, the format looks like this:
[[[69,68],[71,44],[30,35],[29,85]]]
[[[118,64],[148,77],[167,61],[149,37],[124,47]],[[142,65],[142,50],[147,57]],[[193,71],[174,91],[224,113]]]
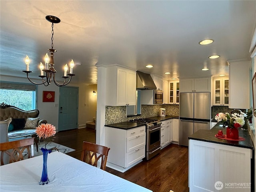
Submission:
[[[179,105],[142,105],[140,116],[126,117],[126,106],[106,106],[105,124],[125,122],[136,118],[148,118],[159,116],[159,109],[165,108],[166,115],[179,115]]]

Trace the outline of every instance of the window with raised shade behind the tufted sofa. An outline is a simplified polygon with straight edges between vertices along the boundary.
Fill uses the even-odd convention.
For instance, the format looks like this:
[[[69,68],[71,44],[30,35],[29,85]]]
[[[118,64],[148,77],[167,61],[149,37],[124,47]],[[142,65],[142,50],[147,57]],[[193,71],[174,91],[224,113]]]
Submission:
[[[16,106],[23,110],[36,109],[36,85],[0,83],[0,103]]]

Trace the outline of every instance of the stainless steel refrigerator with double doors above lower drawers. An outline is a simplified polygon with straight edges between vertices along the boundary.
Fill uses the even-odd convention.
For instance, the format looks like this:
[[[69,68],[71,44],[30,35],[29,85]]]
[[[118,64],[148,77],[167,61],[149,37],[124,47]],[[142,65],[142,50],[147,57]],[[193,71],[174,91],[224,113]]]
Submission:
[[[210,130],[210,93],[180,93],[179,145],[188,146],[188,136]]]

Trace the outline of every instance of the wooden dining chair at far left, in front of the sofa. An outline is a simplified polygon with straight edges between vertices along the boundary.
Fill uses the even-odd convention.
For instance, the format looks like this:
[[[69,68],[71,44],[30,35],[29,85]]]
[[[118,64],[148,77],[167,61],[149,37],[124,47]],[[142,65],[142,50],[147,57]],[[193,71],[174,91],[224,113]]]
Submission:
[[[23,160],[22,152],[25,150],[28,152],[28,158],[34,156],[34,138],[0,143],[1,165]],[[9,158],[9,162],[4,162],[6,156]]]

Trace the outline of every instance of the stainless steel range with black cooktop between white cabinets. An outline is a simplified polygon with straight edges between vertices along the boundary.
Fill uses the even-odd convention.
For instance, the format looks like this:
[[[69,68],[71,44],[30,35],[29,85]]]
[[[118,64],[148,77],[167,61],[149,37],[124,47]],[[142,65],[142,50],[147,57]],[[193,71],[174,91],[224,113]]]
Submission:
[[[160,128],[162,127],[162,122],[149,118],[133,119],[130,122],[138,122],[146,125],[146,160],[160,153]]]

